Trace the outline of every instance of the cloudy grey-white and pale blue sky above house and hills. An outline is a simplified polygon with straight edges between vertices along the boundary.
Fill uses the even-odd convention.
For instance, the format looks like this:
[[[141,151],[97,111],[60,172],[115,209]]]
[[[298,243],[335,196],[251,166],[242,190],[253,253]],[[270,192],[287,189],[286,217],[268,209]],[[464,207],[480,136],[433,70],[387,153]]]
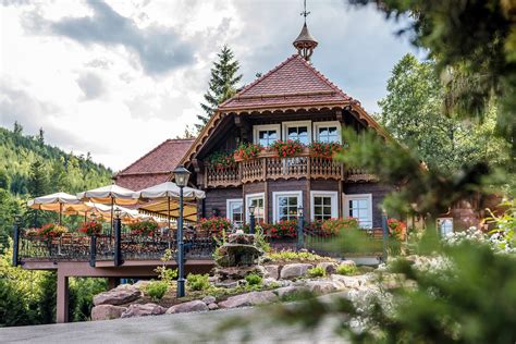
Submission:
[[[0,0],[0,125],[121,170],[201,114],[228,45],[250,83],[295,52],[303,0]],[[369,112],[418,53],[372,7],[308,1],[312,63]],[[243,86],[242,85],[242,86]]]

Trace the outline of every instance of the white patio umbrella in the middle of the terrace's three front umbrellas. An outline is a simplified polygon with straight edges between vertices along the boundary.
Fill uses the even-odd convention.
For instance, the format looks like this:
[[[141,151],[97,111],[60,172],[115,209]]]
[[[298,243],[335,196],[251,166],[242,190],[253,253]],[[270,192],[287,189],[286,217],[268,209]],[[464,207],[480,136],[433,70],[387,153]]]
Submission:
[[[115,185],[107,185],[89,189],[77,194],[77,198],[84,201],[91,201],[101,205],[111,205],[111,233],[113,232],[113,211],[114,206],[130,206],[138,202],[138,199],[133,198],[134,192]]]

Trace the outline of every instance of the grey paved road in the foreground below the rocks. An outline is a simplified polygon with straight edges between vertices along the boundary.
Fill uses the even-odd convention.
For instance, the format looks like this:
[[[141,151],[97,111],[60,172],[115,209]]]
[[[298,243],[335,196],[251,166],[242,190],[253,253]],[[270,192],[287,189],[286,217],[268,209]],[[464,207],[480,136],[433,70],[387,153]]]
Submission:
[[[307,333],[299,328],[269,323],[266,308],[239,308],[209,312],[74,322],[0,330],[0,343],[341,343],[332,321]],[[251,319],[251,325],[225,332],[217,339],[221,322]]]

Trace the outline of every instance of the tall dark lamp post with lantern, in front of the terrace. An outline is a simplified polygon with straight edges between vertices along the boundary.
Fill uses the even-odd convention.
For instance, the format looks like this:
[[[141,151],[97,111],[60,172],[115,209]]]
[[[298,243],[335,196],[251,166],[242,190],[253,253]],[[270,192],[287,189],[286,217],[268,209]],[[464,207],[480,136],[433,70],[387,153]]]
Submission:
[[[177,297],[185,296],[185,261],[183,243],[183,187],[188,183],[189,171],[179,165],[172,172],[175,184],[180,187],[180,219],[177,220]]]

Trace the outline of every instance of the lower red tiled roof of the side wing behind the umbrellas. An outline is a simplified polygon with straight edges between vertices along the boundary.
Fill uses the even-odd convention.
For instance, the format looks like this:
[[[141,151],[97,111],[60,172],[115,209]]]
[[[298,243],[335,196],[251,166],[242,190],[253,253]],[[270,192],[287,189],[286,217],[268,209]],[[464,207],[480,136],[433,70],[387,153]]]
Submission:
[[[114,176],[116,185],[138,191],[167,182],[193,143],[193,138],[167,139],[116,173]]]

